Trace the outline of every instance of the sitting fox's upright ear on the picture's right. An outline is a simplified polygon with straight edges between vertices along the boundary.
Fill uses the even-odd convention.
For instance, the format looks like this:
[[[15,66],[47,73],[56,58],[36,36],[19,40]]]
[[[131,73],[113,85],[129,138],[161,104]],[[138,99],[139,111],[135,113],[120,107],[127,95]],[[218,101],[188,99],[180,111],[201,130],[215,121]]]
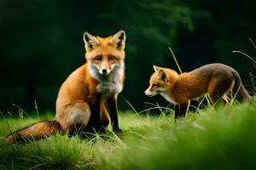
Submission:
[[[120,30],[113,35],[111,40],[109,40],[109,43],[115,48],[125,49],[125,39],[125,31]]]

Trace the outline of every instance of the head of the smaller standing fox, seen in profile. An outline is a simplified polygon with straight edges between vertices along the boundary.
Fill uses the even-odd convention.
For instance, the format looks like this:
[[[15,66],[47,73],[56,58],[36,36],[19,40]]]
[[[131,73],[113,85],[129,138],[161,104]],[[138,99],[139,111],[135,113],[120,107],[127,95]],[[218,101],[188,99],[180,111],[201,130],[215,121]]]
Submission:
[[[155,72],[150,77],[149,87],[144,92],[149,97],[156,94],[166,93],[170,87],[170,79],[166,71],[155,65],[153,67]]]

